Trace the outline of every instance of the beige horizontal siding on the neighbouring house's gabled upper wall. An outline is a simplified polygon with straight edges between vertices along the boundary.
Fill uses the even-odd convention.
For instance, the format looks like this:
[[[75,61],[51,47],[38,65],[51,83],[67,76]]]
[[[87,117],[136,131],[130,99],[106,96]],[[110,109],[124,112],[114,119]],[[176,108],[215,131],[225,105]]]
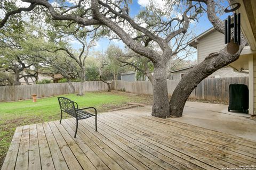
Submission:
[[[207,36],[200,38],[197,44],[197,64],[201,63],[210,53],[218,52],[224,47],[224,35],[217,30],[213,30]]]

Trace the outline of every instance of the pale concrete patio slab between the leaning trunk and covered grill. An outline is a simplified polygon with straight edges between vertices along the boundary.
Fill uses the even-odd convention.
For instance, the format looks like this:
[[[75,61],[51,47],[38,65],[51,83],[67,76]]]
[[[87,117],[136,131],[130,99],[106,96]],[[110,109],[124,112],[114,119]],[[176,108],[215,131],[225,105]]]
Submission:
[[[256,141],[256,121],[245,113],[228,112],[228,105],[187,101],[183,116],[174,120]]]

